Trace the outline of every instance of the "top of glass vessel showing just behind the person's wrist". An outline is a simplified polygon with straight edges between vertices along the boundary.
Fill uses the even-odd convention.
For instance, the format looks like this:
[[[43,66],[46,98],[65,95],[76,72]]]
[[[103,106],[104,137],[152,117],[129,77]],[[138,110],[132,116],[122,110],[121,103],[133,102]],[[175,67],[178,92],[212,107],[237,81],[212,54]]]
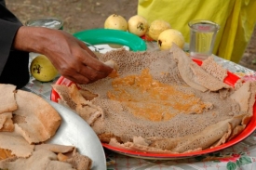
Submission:
[[[36,18],[28,20],[25,23],[26,26],[33,27],[46,27],[50,29],[63,30],[63,21],[53,17]]]

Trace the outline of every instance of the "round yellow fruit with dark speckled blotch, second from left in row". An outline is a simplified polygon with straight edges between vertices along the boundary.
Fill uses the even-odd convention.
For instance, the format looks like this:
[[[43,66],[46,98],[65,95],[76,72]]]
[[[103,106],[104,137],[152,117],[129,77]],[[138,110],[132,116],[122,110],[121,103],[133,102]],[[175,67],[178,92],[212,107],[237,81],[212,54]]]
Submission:
[[[142,36],[148,31],[148,22],[145,18],[136,15],[128,20],[128,32]]]

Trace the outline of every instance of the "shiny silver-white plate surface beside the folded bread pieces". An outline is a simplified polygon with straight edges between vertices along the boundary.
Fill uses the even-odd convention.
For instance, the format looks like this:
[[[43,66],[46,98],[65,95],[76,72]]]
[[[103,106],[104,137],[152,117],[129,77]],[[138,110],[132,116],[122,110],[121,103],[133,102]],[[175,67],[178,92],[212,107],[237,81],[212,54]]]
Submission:
[[[80,154],[87,155],[92,160],[92,170],[106,169],[104,150],[92,128],[74,111],[46,100],[61,114],[62,119],[57,133],[47,143],[75,146]]]

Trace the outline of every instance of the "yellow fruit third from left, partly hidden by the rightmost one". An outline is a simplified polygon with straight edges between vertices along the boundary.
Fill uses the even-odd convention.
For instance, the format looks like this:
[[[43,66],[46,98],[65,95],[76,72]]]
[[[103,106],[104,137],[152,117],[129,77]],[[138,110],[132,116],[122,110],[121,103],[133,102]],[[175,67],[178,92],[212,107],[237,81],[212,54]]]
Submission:
[[[163,31],[170,29],[170,25],[167,21],[165,20],[154,20],[148,30],[148,35],[154,39],[155,41],[157,41],[158,36],[160,33],[162,33]]]

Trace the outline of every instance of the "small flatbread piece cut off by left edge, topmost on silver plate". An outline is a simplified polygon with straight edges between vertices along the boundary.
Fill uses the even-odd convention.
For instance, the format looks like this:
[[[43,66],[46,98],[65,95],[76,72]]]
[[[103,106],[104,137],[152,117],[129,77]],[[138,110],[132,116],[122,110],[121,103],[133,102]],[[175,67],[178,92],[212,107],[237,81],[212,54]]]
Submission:
[[[0,84],[0,114],[3,112],[14,111],[17,109],[17,103],[14,98],[15,85]]]

